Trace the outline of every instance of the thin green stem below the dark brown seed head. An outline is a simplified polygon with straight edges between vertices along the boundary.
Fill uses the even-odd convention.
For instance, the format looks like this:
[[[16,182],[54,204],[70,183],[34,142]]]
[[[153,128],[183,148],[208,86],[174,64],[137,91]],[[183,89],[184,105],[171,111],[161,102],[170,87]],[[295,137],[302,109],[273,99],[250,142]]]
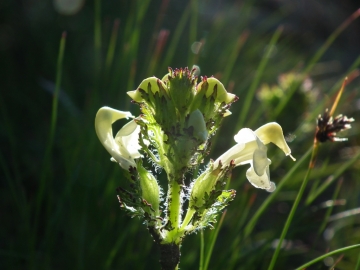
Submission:
[[[314,164],[315,164],[315,159],[316,159],[316,154],[317,154],[317,150],[318,150],[318,143],[317,142],[314,142],[314,145],[313,145],[313,149],[312,149],[312,154],[311,154],[311,159],[310,159],[310,164],[309,164],[309,168],[306,172],[306,175],[305,175],[305,178],[301,184],[301,187],[300,187],[300,190],[298,192],[298,195],[296,196],[296,199],[295,199],[295,202],[293,204],[293,207],[291,208],[291,211],[290,211],[290,214],[286,220],[286,223],[285,223],[285,226],[283,228],[283,231],[281,233],[281,236],[280,236],[280,239],[279,239],[279,242],[278,242],[278,245],[276,247],[276,250],[274,252],[274,255],[271,259],[271,262],[270,262],[270,265],[269,265],[269,268],[268,270],[272,270],[275,266],[275,262],[276,262],[276,259],[279,255],[279,252],[280,252],[280,248],[281,248],[281,245],[282,245],[282,242],[284,241],[284,238],[286,236],[286,233],[290,227],[290,224],[291,224],[291,221],[294,217],[294,214],[296,212],[296,209],[299,205],[299,202],[301,200],[301,197],[305,191],[305,188],[306,188],[306,185],[310,179],[310,173],[312,171],[312,169],[314,168]]]

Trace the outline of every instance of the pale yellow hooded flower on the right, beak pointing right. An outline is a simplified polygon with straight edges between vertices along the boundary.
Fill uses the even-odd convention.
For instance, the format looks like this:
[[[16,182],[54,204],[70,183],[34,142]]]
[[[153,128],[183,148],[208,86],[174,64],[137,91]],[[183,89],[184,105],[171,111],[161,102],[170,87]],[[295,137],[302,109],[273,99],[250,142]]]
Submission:
[[[267,158],[265,144],[272,142],[283,150],[287,156],[291,154],[291,150],[285,142],[281,126],[272,122],[261,126],[255,131],[243,128],[234,136],[234,139],[237,144],[215,160],[214,168],[219,166],[220,161],[222,167],[228,166],[232,161],[235,166],[250,164],[250,168],[246,172],[249,182],[257,188],[274,191],[275,184],[270,182],[269,172],[271,160]],[[294,159],[291,155],[290,157]]]

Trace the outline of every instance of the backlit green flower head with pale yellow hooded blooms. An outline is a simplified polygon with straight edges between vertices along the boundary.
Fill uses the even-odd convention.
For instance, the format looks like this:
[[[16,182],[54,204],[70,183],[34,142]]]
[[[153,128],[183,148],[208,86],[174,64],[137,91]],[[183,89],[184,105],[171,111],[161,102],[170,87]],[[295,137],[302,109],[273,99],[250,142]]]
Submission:
[[[194,72],[187,68],[169,69],[162,79],[147,78],[137,89],[129,91],[128,95],[141,109],[137,117],[102,107],[95,118],[100,142],[131,182],[131,190],[118,189],[121,207],[132,216],[143,217],[154,238],[162,244],[178,244],[186,234],[216,222],[217,214],[235,196],[234,190],[223,188],[236,166],[249,164],[246,173],[249,182],[273,191],[267,144],[275,144],[291,157],[279,124],[268,123],[255,131],[243,128],[234,136],[233,147],[210,161],[203,173],[193,175],[191,183],[186,183],[189,172],[198,168],[208,155],[211,137],[238,99],[213,77],[202,77],[197,84]],[[112,125],[123,118],[132,120],[114,136]],[[161,198],[162,188],[156,175],[146,169],[142,157],[166,172],[165,200]],[[185,197],[189,203],[182,218]]]

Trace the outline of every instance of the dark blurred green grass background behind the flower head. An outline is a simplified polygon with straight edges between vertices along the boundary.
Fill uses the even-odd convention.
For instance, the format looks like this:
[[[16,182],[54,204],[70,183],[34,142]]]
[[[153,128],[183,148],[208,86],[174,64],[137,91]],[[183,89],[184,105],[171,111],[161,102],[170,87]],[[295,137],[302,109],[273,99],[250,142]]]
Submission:
[[[297,162],[304,157],[254,222],[270,194],[250,186],[247,168],[234,170],[237,197],[209,269],[266,269],[307,169],[315,119],[347,75],[354,79],[337,113],[360,119],[360,20],[336,33],[357,8],[350,0],[1,1],[0,267],[160,267],[146,227],[119,209],[115,189],[127,183],[99,143],[94,117],[104,105],[138,113],[126,91],[162,78],[168,66],[196,64],[240,98],[210,157],[232,146],[239,128],[269,121],[282,125]],[[320,147],[275,269],[360,242],[359,124],[341,135],[349,141]],[[279,185],[296,163],[269,148]],[[214,232],[204,232],[205,250]],[[182,269],[198,268],[199,249],[200,234],[184,240]],[[336,269],[354,269],[359,254],[309,269],[338,259]]]

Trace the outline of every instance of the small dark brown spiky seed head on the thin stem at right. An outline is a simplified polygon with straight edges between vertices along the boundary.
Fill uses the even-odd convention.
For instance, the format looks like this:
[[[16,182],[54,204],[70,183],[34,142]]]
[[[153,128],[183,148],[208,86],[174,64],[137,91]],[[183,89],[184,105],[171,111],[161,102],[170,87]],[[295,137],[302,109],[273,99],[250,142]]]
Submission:
[[[350,123],[354,122],[354,118],[347,118],[345,115],[339,114],[333,118],[328,110],[323,115],[319,115],[317,119],[317,130],[315,138],[319,142],[326,141],[347,141],[347,138],[335,137],[337,132],[350,129]]]

